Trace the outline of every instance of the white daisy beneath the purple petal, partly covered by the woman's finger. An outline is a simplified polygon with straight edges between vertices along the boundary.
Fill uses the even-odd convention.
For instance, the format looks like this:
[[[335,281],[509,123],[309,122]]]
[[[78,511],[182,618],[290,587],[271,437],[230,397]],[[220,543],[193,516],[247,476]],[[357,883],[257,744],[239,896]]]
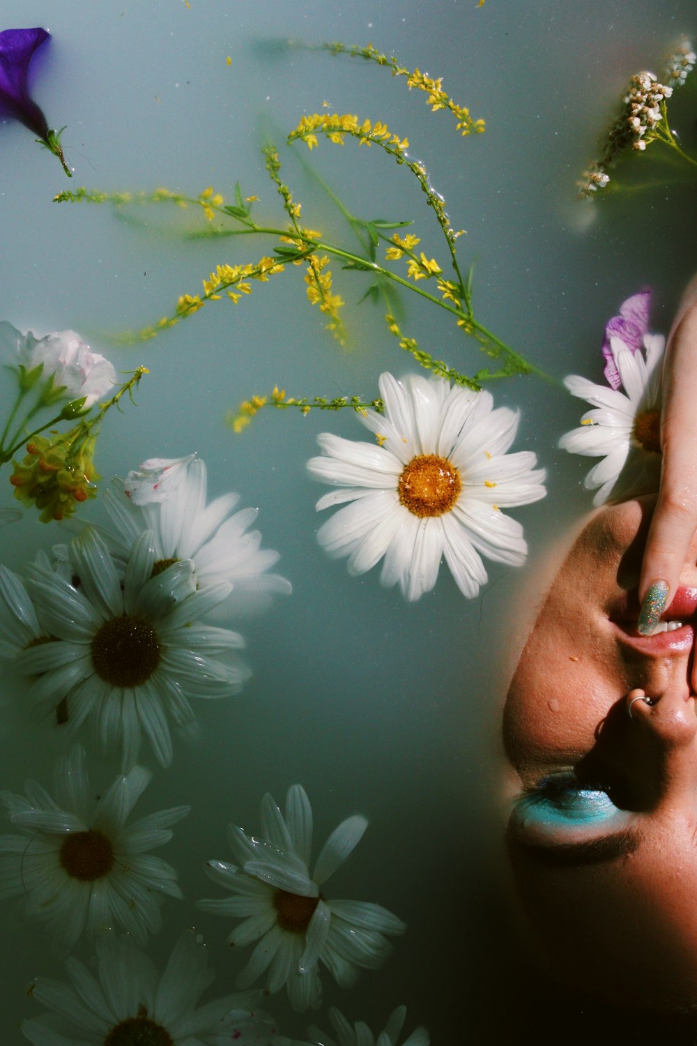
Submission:
[[[660,403],[665,339],[645,335],[644,349],[632,351],[618,337],[609,345],[624,387],[595,385],[578,374],[564,379],[568,391],[595,408],[559,440],[572,454],[603,457],[585,477],[586,490],[599,490],[594,505],[658,490],[660,478]]]

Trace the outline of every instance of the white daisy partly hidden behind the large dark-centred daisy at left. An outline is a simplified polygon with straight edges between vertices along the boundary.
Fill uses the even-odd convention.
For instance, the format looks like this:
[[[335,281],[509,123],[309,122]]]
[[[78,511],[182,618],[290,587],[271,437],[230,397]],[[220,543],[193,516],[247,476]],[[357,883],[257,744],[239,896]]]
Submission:
[[[242,508],[233,514],[238,494],[227,494],[206,504],[205,462],[193,454],[178,461],[182,464],[177,482],[162,494],[163,483],[158,499],[137,500],[129,479],[125,483],[118,478],[112,482],[104,503],[116,529],[116,541],[109,535],[104,537],[116,555],[123,556],[138,535],[152,530],[158,559],[167,563],[191,560],[200,589],[230,582],[234,590],[231,600],[235,604],[240,592],[291,592],[284,577],[266,573],[279,553],[262,549],[259,531],[248,530],[258,509]]]

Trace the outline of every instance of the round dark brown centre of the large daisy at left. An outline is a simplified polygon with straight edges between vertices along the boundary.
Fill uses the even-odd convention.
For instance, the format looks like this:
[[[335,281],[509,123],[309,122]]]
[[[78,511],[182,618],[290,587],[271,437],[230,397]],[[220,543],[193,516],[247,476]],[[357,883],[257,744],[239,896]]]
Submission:
[[[142,617],[113,617],[92,640],[92,664],[112,686],[139,686],[160,663],[155,630]]]

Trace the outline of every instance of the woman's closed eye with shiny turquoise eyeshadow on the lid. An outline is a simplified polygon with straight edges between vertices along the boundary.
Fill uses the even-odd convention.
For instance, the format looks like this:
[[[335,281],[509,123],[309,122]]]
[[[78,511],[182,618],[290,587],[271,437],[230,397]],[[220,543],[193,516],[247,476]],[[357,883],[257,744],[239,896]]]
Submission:
[[[553,774],[525,792],[516,801],[518,823],[591,821],[618,813],[608,789],[581,782],[575,774]]]

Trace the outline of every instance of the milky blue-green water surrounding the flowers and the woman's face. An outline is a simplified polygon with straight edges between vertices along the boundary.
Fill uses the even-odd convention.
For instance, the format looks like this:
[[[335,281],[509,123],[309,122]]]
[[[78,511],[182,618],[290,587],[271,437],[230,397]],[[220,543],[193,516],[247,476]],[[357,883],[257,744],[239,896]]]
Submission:
[[[50,126],[67,124],[63,142],[75,176],[68,183],[26,129],[0,126],[0,318],[22,331],[72,327],[117,368],[147,366],[137,406],[126,404],[103,426],[99,472],[108,479],[150,456],[196,451],[211,496],[234,490],[242,505],[258,506],[264,545],[280,551],[277,569],[294,587],[238,622],[254,673],[239,697],[207,704],[200,743],[176,743],[172,766],[154,766],[142,813],[180,803],[192,812],[160,851],[178,868],[184,901],[166,902],[153,956],[162,962],[181,930],[195,925],[217,972],[211,997],[232,990],[249,952],[226,950],[232,923],[194,908],[196,897],[216,894],[203,864],[230,859],[229,820],[256,831],[263,793],[280,801],[299,781],[312,802],[317,846],[351,813],[370,821],[331,895],[377,901],[409,924],[386,965],[365,972],[353,990],[326,975],[325,1007],[339,1005],[377,1031],[405,1002],[406,1028],[425,1024],[442,1046],[510,1042],[518,1033],[572,1041],[585,1011],[564,1010],[555,990],[536,981],[508,928],[498,862],[496,727],[521,572],[492,565],[489,585],[467,601],[443,567],[435,591],[416,605],[380,588],[376,570],[349,577],[345,563],[329,561],[317,544],[323,491],[305,461],[317,453],[319,432],[364,438],[357,419],[349,411],[303,418],[269,410],[241,435],[225,425],[230,408],[274,384],[288,394],[370,400],[382,370],[415,369],[388,333],[382,308],[357,304],[367,277],[331,267],[347,302],[344,349],[306,302],[301,269],[255,285],[236,306],[211,303],[155,341],[115,347],[109,335],[170,313],[216,264],[254,260],[271,243],[187,240],[192,218],[173,208],[115,213],[51,200],[80,185],[166,185],[190,196],[213,185],[231,199],[238,181],[245,196],[258,196],[258,219],[282,223],[260,155],[272,137],[307,226],[352,243],[308,176],[309,162],[353,213],[413,219],[427,255],[442,257],[418,185],[377,149],[322,141],[310,156],[300,143],[283,144],[300,116],[323,111],[325,101],[324,111],[382,119],[408,136],[455,228],[466,230],[459,250],[475,265],[475,315],[555,379],[492,387],[496,404],[521,409],[514,449],[535,450],[549,472],[547,499],[514,510],[531,547],[526,569],[534,570],[590,502],[582,488],[588,462],[556,450],[582,410],[560,379],[570,371],[600,378],[604,323],[644,286],[655,289],[652,327],[667,332],[697,267],[694,189],[672,185],[586,205],[574,184],[628,77],[659,65],[680,33],[694,40],[694,0],[486,0],[479,8],[475,0],[4,0],[0,28],[25,25],[52,33],[37,60],[33,96]],[[487,131],[462,139],[448,114],[431,113],[403,79],[363,62],[272,46],[277,38],[372,41],[410,68],[443,76]],[[674,106],[694,146],[695,90],[687,86]],[[654,167],[649,156],[644,162],[648,176]],[[469,372],[482,365],[445,313],[406,297],[404,329],[422,347]],[[3,384],[4,411],[9,379]],[[1,503],[9,498],[6,485]],[[98,502],[84,517],[106,519]],[[17,569],[56,533],[28,514],[0,532],[2,562]],[[1,788],[20,791],[26,776],[50,783],[65,743],[25,711],[22,685],[11,678],[0,737]],[[106,780],[114,767],[102,767]],[[19,1022],[39,1010],[28,983],[36,975],[63,977],[63,960],[11,903],[2,926],[0,1041],[14,1044]],[[83,941],[75,954],[91,951]],[[284,995],[270,999],[269,1009],[283,1031],[302,1038],[309,1020],[293,1015]],[[313,1019],[327,1026],[326,1009]],[[595,1033],[588,1029],[585,1041],[604,1041]]]

